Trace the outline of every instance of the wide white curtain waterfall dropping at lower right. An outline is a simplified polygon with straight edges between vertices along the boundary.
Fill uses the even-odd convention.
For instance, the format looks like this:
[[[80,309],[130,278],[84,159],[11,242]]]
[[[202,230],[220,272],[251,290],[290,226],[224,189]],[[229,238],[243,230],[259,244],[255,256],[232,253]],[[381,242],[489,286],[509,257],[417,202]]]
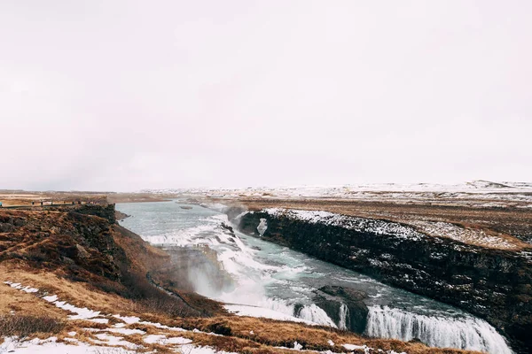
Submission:
[[[370,307],[365,334],[402,341],[418,338],[431,347],[512,354],[503,336],[484,320],[428,317],[387,306]]]

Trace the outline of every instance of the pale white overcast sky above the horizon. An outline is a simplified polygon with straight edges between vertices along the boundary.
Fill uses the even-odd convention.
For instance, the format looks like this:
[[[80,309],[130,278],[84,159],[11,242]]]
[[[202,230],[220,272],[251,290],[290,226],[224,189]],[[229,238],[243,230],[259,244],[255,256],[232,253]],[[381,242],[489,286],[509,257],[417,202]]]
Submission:
[[[0,2],[0,189],[532,180],[532,2]]]

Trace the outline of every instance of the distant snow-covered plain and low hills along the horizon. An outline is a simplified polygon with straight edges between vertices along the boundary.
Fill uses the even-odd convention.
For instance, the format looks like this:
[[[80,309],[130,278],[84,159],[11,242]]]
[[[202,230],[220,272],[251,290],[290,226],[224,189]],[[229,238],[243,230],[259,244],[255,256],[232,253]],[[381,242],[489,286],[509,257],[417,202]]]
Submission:
[[[509,205],[532,208],[532,183],[472,181],[444,184],[359,184],[341,186],[256,187],[245,189],[145,189],[143,193],[180,194],[215,198],[338,198],[387,202],[463,204],[481,207]]]

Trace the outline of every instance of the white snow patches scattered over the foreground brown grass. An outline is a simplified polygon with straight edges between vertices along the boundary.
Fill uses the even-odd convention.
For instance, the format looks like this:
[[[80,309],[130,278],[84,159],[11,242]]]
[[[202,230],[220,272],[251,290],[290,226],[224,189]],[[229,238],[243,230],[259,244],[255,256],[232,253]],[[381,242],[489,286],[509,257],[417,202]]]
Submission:
[[[6,286],[10,286],[13,289],[19,289],[20,291],[34,294],[35,296],[41,298],[43,301],[47,301],[51,304],[54,304],[56,307],[69,312],[68,319],[84,319],[93,321],[101,324],[108,324],[110,319],[120,320],[120,323],[115,323],[106,328],[82,328],[82,333],[78,332],[69,332],[68,337],[64,338],[62,341],[58,340],[58,337],[52,336],[47,339],[19,339],[17,337],[4,337],[4,342],[0,344],[0,354],[4,353],[15,353],[15,354],[133,354],[137,353],[139,350],[145,351],[148,350],[142,344],[136,344],[134,342],[129,342],[128,337],[130,335],[142,335],[142,340],[145,344],[160,344],[167,347],[167,349],[175,350],[180,353],[187,354],[235,354],[231,352],[226,352],[223,350],[215,350],[212,347],[200,346],[195,344],[192,339],[186,338],[188,334],[202,333],[205,335],[216,335],[214,333],[201,332],[198,329],[186,330],[181,327],[168,327],[161,325],[160,323],[154,323],[149,321],[143,321],[138,317],[134,316],[121,316],[120,314],[102,314],[98,311],[93,311],[88,308],[80,308],[72,304],[68,304],[65,301],[60,301],[58,296],[42,293],[39,289],[32,288],[30,286],[24,286],[18,282],[4,281]],[[255,317],[265,317],[265,318],[276,318],[277,314],[272,313],[263,313],[256,312],[251,310],[251,306],[238,306],[238,308],[230,308],[233,312],[246,312],[241,313],[246,316],[255,316]],[[259,309],[263,310],[263,309]],[[283,320],[290,320],[282,318]],[[146,326],[156,327],[165,332],[160,332],[157,335],[147,335],[145,330],[140,328],[135,328],[135,325],[145,328]],[[250,333],[253,334],[253,330],[250,330]],[[92,334],[93,337],[89,337],[90,342],[82,342],[82,337],[87,338],[86,334]],[[182,335],[177,335],[182,334]],[[85,339],[86,341],[86,339]],[[334,343],[329,340],[330,345]],[[365,353],[370,353],[374,350],[367,346],[359,346],[355,344],[344,343],[340,344],[347,350],[364,350]],[[305,350],[303,346],[298,342],[293,342],[293,348],[282,348],[289,350]],[[145,351],[145,352],[155,352]],[[316,350],[308,350],[312,352],[318,352]],[[381,353],[387,354],[406,354],[406,353],[396,353],[394,350],[378,350]],[[331,350],[321,352],[323,354],[334,354]]]

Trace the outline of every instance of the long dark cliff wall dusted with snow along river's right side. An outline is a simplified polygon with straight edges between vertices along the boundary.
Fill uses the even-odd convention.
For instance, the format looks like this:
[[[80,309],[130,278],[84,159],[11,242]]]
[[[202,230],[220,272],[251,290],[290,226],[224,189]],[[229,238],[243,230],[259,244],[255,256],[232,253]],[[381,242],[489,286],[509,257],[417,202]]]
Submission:
[[[230,212],[230,217],[235,212]],[[264,220],[265,219],[265,220]],[[423,235],[377,219],[334,222],[248,212],[242,232],[285,245],[487,319],[522,352],[532,352],[532,262],[525,251],[486,249]]]

